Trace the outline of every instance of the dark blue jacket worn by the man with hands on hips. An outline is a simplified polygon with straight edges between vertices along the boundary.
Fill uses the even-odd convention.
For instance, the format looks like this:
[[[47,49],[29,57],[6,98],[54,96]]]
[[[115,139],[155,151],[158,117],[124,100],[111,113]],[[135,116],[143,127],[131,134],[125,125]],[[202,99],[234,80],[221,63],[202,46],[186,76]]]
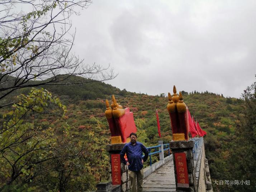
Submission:
[[[145,162],[148,158],[148,149],[142,144],[136,141],[136,144],[133,145],[131,142],[124,145],[120,153],[120,158],[122,162],[126,165],[127,161],[124,159],[124,154],[126,153],[128,162],[128,169],[130,171],[139,171],[143,168],[142,152],[145,154],[143,161]]]

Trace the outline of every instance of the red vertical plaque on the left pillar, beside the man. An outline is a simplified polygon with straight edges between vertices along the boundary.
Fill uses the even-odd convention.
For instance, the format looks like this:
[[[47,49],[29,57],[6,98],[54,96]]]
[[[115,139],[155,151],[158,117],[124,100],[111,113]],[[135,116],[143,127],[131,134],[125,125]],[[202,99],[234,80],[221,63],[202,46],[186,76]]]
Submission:
[[[112,184],[121,184],[121,163],[120,154],[111,155],[111,167],[112,167]]]

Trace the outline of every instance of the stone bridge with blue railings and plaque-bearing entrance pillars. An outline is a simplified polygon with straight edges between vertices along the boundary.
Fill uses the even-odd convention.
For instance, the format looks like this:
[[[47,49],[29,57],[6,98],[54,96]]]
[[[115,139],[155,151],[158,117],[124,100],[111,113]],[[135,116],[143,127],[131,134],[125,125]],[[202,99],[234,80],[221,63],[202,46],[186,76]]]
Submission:
[[[109,152],[112,165],[112,181],[97,184],[97,192],[128,192],[130,191],[127,165],[120,163],[120,183],[113,181],[113,154],[119,154],[124,144],[110,144],[106,149]],[[170,149],[172,154],[164,157],[164,151]],[[152,149],[155,150],[152,152]],[[144,168],[143,191],[145,192],[212,192],[212,183],[208,161],[205,158],[203,138],[192,138],[189,141],[170,141],[150,147],[151,155],[158,153],[159,161]],[[182,156],[183,155],[183,156]],[[182,161],[182,157],[185,158]],[[185,163],[185,164],[183,164]],[[186,171],[184,171],[184,169]],[[182,170],[182,172],[180,172]],[[184,172],[183,172],[184,171]],[[119,174],[119,173],[118,173]],[[187,181],[186,181],[187,180]]]

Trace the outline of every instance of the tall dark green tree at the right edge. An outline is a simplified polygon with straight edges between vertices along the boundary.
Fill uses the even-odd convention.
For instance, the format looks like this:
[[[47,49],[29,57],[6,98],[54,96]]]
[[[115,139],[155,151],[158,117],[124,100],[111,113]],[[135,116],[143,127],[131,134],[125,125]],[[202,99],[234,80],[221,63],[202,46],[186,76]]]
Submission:
[[[232,186],[230,191],[255,191],[256,186],[256,82],[244,90],[245,109],[241,111],[241,125],[237,125],[236,139],[232,145],[232,177],[240,181],[250,180],[250,185]]]

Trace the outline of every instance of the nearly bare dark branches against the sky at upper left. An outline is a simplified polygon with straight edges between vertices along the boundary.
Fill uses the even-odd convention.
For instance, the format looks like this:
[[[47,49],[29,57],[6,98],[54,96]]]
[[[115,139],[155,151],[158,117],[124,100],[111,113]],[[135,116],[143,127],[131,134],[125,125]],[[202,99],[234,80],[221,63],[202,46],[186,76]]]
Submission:
[[[71,85],[117,76],[110,65],[84,64],[72,53],[75,32],[71,15],[79,15],[91,0],[2,0],[0,10],[0,106],[13,91],[41,85]],[[27,12],[19,10],[26,4]]]

